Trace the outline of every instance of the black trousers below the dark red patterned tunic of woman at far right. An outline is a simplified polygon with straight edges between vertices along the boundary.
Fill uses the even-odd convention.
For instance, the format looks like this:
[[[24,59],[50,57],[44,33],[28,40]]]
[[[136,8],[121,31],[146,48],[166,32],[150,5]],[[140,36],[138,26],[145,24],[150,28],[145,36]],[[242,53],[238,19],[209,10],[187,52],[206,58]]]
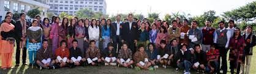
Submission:
[[[240,72],[240,63],[238,62],[236,67],[236,61],[230,61],[230,72],[233,74],[234,70],[236,68],[236,74],[239,74]]]

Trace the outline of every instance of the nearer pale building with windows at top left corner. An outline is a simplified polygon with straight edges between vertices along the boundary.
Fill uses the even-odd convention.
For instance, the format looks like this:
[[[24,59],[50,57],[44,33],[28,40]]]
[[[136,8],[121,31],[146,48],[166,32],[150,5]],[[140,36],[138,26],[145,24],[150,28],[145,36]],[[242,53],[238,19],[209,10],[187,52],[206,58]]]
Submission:
[[[42,10],[41,17],[46,17],[47,10],[50,9],[50,6],[47,4],[48,1],[49,0],[0,0],[0,21],[4,20],[6,12],[8,11],[13,13],[28,12],[28,10],[36,7]]]

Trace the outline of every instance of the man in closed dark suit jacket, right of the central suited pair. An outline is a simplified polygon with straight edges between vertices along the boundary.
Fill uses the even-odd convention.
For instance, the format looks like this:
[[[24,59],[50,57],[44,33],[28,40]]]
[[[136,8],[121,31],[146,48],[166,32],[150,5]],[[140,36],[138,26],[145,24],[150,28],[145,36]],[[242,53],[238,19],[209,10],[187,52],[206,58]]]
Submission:
[[[137,43],[139,34],[138,34],[138,25],[133,21],[132,13],[128,15],[128,21],[122,24],[121,29],[121,42],[127,42],[132,53],[135,53],[135,44]]]

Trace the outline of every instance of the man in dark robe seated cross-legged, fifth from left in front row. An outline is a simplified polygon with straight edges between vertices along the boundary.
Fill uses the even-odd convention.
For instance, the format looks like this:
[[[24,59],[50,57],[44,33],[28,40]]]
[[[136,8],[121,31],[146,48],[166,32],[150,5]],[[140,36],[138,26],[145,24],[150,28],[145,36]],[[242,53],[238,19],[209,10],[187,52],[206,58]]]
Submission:
[[[101,60],[105,65],[116,65],[116,51],[114,50],[113,43],[108,43],[107,48],[103,51]]]

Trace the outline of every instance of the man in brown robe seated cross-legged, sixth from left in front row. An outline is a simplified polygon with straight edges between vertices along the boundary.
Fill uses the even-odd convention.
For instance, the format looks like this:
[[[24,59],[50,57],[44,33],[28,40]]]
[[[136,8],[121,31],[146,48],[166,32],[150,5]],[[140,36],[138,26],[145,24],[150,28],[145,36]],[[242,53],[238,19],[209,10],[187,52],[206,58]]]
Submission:
[[[127,43],[122,43],[122,49],[118,52],[116,62],[118,62],[118,67],[121,65],[122,67],[132,68],[132,64],[134,64],[134,61],[132,61],[132,50],[128,48]]]

